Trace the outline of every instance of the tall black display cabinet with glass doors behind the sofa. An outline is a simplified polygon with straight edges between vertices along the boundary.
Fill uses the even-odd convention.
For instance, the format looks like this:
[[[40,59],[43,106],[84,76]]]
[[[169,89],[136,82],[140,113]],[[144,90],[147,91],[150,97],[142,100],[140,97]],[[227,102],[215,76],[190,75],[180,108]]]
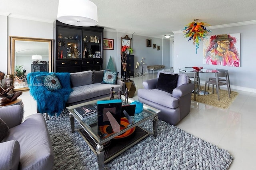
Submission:
[[[104,28],[54,22],[54,71],[78,72],[103,69]]]

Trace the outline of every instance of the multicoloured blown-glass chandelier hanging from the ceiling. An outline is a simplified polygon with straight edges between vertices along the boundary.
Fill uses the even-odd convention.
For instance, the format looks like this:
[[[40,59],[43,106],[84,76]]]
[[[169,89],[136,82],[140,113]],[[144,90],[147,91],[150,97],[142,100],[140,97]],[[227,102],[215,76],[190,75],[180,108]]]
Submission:
[[[206,29],[206,26],[210,26],[206,22],[199,22],[198,19],[194,20],[193,22],[189,23],[185,26],[185,28],[182,30],[182,32],[185,32],[184,34],[185,38],[188,38],[189,40],[193,40],[193,44],[196,44],[196,53],[197,49],[199,48],[199,41],[204,40],[204,38],[207,38],[207,34],[211,32],[210,30]]]

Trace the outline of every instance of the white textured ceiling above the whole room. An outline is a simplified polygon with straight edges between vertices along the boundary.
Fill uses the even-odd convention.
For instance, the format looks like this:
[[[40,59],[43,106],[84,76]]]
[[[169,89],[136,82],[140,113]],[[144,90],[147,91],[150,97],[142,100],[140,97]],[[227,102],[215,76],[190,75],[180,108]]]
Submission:
[[[91,1],[98,8],[98,26],[152,37],[173,34],[194,19],[212,26],[256,20],[256,0]],[[0,4],[0,15],[44,22],[53,22],[58,12],[58,0],[0,0]]]

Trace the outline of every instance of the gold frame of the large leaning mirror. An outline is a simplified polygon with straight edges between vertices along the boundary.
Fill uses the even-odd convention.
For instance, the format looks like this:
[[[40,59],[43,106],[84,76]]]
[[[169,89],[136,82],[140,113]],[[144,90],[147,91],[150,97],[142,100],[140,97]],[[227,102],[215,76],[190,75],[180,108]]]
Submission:
[[[8,66],[7,66],[7,73],[14,75],[15,72],[15,42],[16,41],[28,41],[28,42],[47,42],[48,48],[49,48],[49,63],[48,63],[48,71],[52,72],[53,70],[53,55],[52,55],[52,49],[53,49],[53,40],[52,39],[43,39],[43,38],[28,38],[28,37],[16,37],[16,36],[10,36],[9,37],[9,56],[8,56]],[[13,77],[14,82],[14,77]],[[15,89],[14,91],[22,91],[22,90],[29,90],[29,87],[19,88]]]

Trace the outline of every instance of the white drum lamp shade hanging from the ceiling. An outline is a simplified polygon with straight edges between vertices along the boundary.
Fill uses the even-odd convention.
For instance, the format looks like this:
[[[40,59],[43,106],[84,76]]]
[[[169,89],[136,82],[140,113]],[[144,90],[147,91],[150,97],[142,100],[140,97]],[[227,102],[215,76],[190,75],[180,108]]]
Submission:
[[[96,26],[97,6],[89,0],[59,0],[57,20],[72,26]]]

